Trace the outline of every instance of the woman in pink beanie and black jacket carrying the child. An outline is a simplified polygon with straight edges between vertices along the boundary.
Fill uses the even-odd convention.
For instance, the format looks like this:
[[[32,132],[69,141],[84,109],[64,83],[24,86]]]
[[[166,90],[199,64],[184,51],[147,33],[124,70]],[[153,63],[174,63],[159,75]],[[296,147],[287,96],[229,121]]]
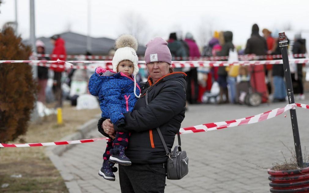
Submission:
[[[133,111],[124,114],[125,124],[112,125],[104,118],[98,122],[99,132],[104,136],[113,137],[115,131],[131,132],[125,154],[132,165],[119,166],[121,192],[164,192],[167,155],[156,128],[160,128],[170,151],[184,120],[186,74],[173,72],[171,53],[162,38],[150,40],[146,47],[150,76],[141,83],[142,95]]]

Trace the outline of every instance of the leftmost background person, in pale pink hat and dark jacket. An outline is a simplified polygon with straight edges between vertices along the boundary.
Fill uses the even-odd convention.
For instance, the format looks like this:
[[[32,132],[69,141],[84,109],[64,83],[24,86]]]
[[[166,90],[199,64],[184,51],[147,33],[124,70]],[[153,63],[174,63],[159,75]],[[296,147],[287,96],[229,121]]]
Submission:
[[[41,40],[36,40],[36,53],[45,54],[45,44]],[[38,60],[49,60],[48,57],[40,56]],[[39,85],[39,93],[38,93],[38,101],[45,103],[45,89],[48,80],[48,68],[44,66],[38,66],[38,85]]]

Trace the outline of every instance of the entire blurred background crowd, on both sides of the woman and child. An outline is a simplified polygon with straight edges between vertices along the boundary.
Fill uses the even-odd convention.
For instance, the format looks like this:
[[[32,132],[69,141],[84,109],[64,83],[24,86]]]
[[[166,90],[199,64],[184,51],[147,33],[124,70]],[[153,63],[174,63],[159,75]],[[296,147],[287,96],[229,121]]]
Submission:
[[[278,32],[272,33],[268,29],[263,29],[263,36],[260,36],[260,29],[257,24],[252,26],[251,37],[247,40],[246,47],[235,47],[233,44],[233,33],[231,31],[214,31],[212,39],[208,45],[199,49],[193,35],[188,32],[183,37],[172,32],[167,40],[168,48],[172,57],[180,57],[181,60],[186,57],[220,57],[222,61],[237,61],[239,55],[252,54],[255,56],[280,55]],[[59,36],[51,37],[54,45],[52,54],[63,55],[62,57],[39,57],[39,60],[66,60],[65,41]],[[302,39],[301,34],[296,34],[294,44],[289,44],[291,54],[305,54],[306,40]],[[45,54],[44,43],[38,40],[36,42],[36,52]],[[91,55],[87,53],[86,55]],[[275,60],[280,58],[269,57],[266,60]],[[265,58],[255,59],[265,60]],[[305,99],[303,86],[303,66],[304,64],[290,64],[291,76],[293,81],[294,93],[298,94],[297,99]],[[53,73],[48,73],[46,67],[38,67],[38,82],[40,86],[38,100],[45,103],[46,95],[53,95],[56,99],[56,107],[62,106],[64,97],[71,99],[72,104],[76,104],[76,99],[80,92],[74,93],[72,89],[70,94],[63,95],[63,86],[61,82],[66,82],[71,86],[72,78],[87,82],[86,70],[65,70],[64,68],[50,68]],[[187,74],[186,95],[188,103],[245,103],[245,95],[248,93],[258,93],[261,102],[283,102],[286,101],[286,86],[284,81],[284,70],[282,65],[255,65],[255,66],[220,66],[220,67],[199,67],[199,68],[176,68],[175,71],[182,71]],[[65,72],[65,73],[64,73]],[[53,74],[53,75],[52,75]],[[63,77],[65,74],[65,77]],[[73,76],[75,74],[75,76]],[[80,76],[79,79],[76,77]],[[148,73],[141,70],[137,80],[147,78]],[[53,77],[50,84],[51,91],[48,92],[48,78]],[[79,86],[81,84],[78,84]],[[87,83],[82,84],[83,86]],[[76,87],[76,84],[73,87]],[[79,88],[78,88],[79,89]],[[85,89],[79,89],[85,90]],[[87,92],[87,89],[86,91]],[[73,93],[73,94],[72,94]],[[45,97],[46,96],[46,97]],[[206,98],[205,98],[206,96]],[[209,100],[207,96],[212,96],[214,100]],[[47,98],[51,98],[48,96]]]

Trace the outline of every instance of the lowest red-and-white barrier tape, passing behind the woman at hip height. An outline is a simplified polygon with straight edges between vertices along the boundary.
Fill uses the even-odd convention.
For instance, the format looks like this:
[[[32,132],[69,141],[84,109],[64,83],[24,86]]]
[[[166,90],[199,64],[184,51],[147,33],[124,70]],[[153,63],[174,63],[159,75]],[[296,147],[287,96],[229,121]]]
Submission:
[[[196,125],[196,126],[186,127],[186,128],[180,128],[179,132],[180,134],[206,132],[206,131],[213,131],[213,130],[218,130],[218,129],[223,129],[223,128],[236,127],[239,125],[257,123],[257,122],[261,122],[264,120],[274,118],[290,109],[294,109],[295,107],[309,109],[309,105],[306,105],[306,104],[300,104],[300,103],[288,104],[285,107],[273,109],[271,111],[267,111],[265,113],[261,113],[261,114],[254,115],[251,117],[230,120],[230,121],[216,122],[216,123],[207,123],[207,124]],[[0,143],[0,147],[38,147],[38,146],[50,146],[50,145],[69,145],[69,144],[95,142],[95,141],[101,141],[101,140],[107,140],[107,139],[108,139],[107,137],[103,137],[103,138],[96,138],[96,139],[58,141],[58,142],[48,142],[48,143],[26,143],[26,144]]]

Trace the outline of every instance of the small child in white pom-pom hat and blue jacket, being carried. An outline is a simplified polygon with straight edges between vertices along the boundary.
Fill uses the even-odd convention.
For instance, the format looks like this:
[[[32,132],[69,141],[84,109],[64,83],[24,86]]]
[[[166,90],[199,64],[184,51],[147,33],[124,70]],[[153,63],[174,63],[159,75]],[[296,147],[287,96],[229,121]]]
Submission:
[[[113,70],[96,68],[88,88],[92,95],[99,97],[102,117],[109,118],[113,124],[121,125],[125,123],[123,114],[132,111],[140,97],[141,89],[135,78],[138,73],[138,43],[133,36],[122,35],[116,39],[115,48]],[[130,159],[125,156],[129,136],[130,133],[117,132],[114,140],[108,139],[103,166],[99,170],[99,175],[104,179],[115,181],[115,163],[131,165]]]

